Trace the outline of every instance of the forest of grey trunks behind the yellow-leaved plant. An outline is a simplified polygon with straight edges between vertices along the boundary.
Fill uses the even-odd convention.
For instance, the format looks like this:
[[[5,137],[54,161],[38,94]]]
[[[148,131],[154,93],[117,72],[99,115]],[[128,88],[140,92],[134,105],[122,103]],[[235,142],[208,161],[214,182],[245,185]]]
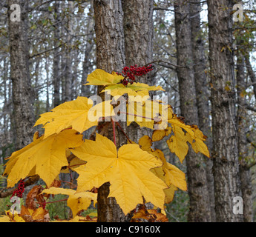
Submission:
[[[12,4],[21,6],[22,27],[10,22]],[[234,19],[240,9],[233,10],[235,4],[243,6],[243,18]],[[188,182],[188,191],[178,190],[166,206],[168,220],[255,221],[255,6],[255,0],[1,1],[1,173],[4,158],[30,143],[40,114],[97,93],[97,87],[84,86],[97,67],[111,73],[154,64],[140,82],[162,86],[174,113],[208,136],[211,153],[188,152],[180,164],[164,141],[155,144]],[[105,48],[99,34],[109,34]],[[117,47],[115,40],[123,44]],[[108,61],[111,53],[121,56],[119,65],[115,56]],[[148,134],[131,130],[134,141]],[[232,213],[235,196],[243,198],[243,215]],[[0,215],[7,204],[8,198],[0,199]],[[65,202],[50,208],[53,216],[68,213]]]

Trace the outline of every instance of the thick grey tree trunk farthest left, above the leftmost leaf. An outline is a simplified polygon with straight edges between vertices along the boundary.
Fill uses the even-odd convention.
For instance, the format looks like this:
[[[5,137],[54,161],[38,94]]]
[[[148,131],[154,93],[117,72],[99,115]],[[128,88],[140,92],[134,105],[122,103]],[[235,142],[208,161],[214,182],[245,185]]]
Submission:
[[[21,149],[33,138],[33,90],[30,82],[27,44],[27,8],[26,0],[10,0],[8,3],[10,38],[10,78],[13,86],[13,124],[15,127],[15,148]],[[20,20],[13,21],[10,10],[12,4],[21,9]],[[12,6],[13,7],[13,6]],[[18,9],[17,9],[18,10]],[[17,13],[19,15],[19,13]]]

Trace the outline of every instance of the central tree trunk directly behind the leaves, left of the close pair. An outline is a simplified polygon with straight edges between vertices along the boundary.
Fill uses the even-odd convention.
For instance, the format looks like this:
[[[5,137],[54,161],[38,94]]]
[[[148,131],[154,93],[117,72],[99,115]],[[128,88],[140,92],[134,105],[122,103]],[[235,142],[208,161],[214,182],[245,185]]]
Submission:
[[[125,67],[125,42],[123,33],[123,13],[121,0],[94,0],[96,32],[96,67],[108,73],[119,72]],[[98,87],[98,93],[103,87]],[[104,100],[103,95],[102,99]],[[125,127],[124,127],[125,129]],[[105,134],[113,140],[113,131]],[[126,144],[122,133],[117,134],[116,147]],[[99,222],[124,221],[125,215],[116,204],[115,198],[108,198],[109,183],[98,190],[97,208]]]

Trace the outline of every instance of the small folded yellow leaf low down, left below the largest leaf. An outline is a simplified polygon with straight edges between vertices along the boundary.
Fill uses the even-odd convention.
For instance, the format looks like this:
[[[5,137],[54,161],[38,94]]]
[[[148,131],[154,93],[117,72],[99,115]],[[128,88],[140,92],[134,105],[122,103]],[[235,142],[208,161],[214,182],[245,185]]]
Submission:
[[[82,192],[82,193],[76,193],[76,190],[70,190],[66,188],[60,188],[60,187],[50,187],[49,189],[43,190],[42,193],[48,193],[48,194],[65,194],[68,195],[68,207],[72,210],[73,216],[76,216],[76,214],[80,210],[87,210],[88,207],[91,204],[91,201],[94,201],[94,204],[97,201],[97,194],[91,193],[91,192]]]

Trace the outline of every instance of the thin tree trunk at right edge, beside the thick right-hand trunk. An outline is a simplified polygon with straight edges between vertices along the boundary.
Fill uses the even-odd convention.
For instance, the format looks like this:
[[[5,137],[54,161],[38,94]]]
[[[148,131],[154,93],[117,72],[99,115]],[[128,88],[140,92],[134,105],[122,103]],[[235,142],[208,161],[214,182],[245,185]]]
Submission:
[[[245,75],[245,60],[242,53],[237,55],[237,136],[238,136],[238,154],[240,162],[240,180],[243,197],[243,221],[252,222],[252,182],[249,166],[246,161],[248,156],[248,143],[246,139],[247,128],[247,111],[246,98],[246,75]]]

